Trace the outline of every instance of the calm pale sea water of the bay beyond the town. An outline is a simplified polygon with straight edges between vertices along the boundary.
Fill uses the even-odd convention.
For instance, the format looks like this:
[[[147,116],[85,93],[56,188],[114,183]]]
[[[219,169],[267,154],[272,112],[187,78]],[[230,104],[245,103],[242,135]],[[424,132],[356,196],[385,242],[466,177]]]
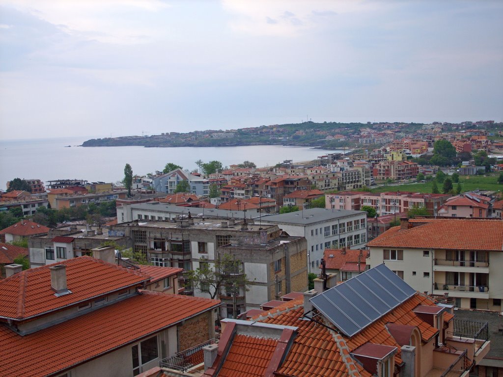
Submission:
[[[241,146],[208,148],[78,147],[85,138],[0,140],[0,187],[20,178],[44,182],[60,178],[116,182],[124,178],[129,163],[134,174],[162,170],[166,162],[185,169],[197,168],[196,161],[218,160],[223,166],[253,161],[257,166],[275,165],[283,160],[307,161],[339,150],[284,146]],[[66,147],[71,145],[71,147]]]

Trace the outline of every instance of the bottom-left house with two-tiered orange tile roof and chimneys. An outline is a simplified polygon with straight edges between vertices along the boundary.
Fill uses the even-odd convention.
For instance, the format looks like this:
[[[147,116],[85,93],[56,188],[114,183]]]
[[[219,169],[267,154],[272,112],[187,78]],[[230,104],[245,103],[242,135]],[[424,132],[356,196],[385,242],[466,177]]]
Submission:
[[[0,281],[3,376],[138,375],[215,337],[219,301],[147,291],[152,277],[136,269],[90,256],[7,268]]]

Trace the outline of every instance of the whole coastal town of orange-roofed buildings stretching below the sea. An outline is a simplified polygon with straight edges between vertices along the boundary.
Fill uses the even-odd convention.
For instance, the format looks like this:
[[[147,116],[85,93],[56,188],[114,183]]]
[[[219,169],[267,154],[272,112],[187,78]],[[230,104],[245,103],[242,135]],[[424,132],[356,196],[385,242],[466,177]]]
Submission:
[[[0,375],[503,375],[503,125],[306,127],[353,144],[12,177]]]

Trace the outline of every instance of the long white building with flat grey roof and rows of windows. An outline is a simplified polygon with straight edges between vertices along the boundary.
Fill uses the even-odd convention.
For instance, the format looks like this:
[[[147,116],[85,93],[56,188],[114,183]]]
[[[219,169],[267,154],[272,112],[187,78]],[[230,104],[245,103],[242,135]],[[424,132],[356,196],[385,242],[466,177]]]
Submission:
[[[257,219],[256,219],[257,222]],[[292,236],[305,237],[308,270],[317,272],[326,248],[360,249],[367,242],[367,212],[347,210],[309,210],[268,215],[262,224],[275,224]]]

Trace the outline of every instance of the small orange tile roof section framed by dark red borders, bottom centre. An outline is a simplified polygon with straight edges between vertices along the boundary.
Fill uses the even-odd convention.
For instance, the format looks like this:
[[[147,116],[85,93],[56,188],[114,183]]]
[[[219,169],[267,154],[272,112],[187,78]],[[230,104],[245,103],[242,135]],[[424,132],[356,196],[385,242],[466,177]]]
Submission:
[[[236,334],[218,375],[264,376],[277,345],[278,339]]]

